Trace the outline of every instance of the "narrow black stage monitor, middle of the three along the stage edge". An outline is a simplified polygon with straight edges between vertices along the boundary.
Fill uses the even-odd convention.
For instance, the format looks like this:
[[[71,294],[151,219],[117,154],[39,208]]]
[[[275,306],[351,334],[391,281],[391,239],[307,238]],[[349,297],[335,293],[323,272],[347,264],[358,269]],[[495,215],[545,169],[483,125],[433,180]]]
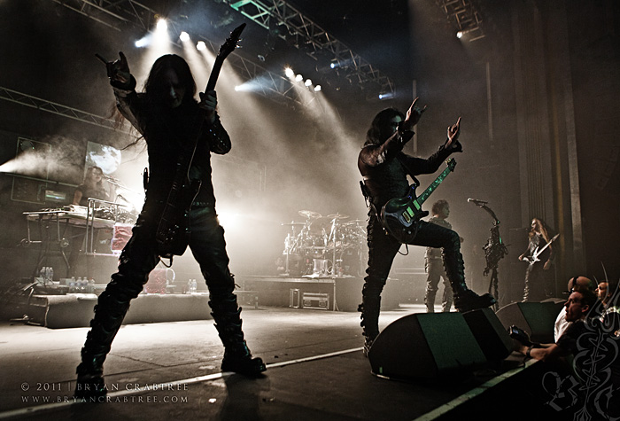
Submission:
[[[468,311],[463,317],[487,360],[501,361],[510,355],[512,339],[491,308]]]

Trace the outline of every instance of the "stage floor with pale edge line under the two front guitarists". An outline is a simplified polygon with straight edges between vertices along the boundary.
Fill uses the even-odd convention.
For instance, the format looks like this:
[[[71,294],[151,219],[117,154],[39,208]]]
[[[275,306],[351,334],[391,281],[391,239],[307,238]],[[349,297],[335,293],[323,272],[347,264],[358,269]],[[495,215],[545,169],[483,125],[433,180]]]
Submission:
[[[421,311],[384,311],[380,324]],[[71,398],[88,328],[2,322],[0,419],[498,419],[509,402],[520,402],[523,417],[532,410],[523,385],[511,386],[531,370],[523,359],[465,379],[394,381],[371,374],[357,312],[260,307],[242,317],[252,354],[267,363],[263,378],[221,373],[213,321],[128,324],[106,360],[111,401],[101,404]]]

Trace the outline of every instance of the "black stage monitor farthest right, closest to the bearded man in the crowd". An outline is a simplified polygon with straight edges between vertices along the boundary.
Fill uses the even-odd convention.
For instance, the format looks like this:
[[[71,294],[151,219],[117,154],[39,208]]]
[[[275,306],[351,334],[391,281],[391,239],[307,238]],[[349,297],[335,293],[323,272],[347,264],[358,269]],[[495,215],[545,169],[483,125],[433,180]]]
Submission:
[[[514,302],[500,308],[497,317],[506,329],[515,324],[526,331],[534,342],[552,343],[555,319],[562,307],[562,302],[554,301]]]

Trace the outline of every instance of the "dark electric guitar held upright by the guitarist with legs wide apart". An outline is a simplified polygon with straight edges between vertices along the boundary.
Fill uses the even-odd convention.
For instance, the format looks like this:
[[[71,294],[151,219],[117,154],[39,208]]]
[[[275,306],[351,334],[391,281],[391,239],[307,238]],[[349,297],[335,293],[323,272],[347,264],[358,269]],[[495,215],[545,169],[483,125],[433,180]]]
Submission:
[[[220,47],[220,52],[215,58],[213,69],[206,84],[205,92],[215,88],[215,82],[220,75],[221,65],[229,54],[235,50],[239,36],[244,30],[245,24],[241,24],[233,30],[226,42]],[[198,146],[198,140],[202,133],[202,126],[205,121],[205,112],[199,113],[198,131],[193,147],[185,148],[179,154],[176,163],[176,171],[172,187],[168,193],[168,198],[164,210],[159,219],[159,226],[155,234],[158,253],[161,257],[172,258],[173,255],[182,255],[190,241],[190,208],[191,203],[196,199],[200,190],[200,180],[190,180],[189,171],[191,161]]]

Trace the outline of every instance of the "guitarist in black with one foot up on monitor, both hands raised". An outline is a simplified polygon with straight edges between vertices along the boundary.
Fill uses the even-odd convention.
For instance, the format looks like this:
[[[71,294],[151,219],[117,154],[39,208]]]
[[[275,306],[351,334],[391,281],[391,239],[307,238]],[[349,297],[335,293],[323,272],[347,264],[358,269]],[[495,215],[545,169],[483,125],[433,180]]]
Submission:
[[[407,111],[407,116],[394,108],[376,114],[368,129],[366,143],[359,158],[358,168],[363,175],[362,191],[369,200],[368,211],[368,269],[362,289],[361,326],[364,329],[364,352],[379,334],[378,319],[381,292],[390,274],[391,263],[402,244],[443,247],[446,275],[454,293],[454,307],[461,311],[491,306],[495,299],[469,290],[465,284],[461,241],[453,230],[419,221],[412,230],[403,230],[398,238],[387,233],[381,221],[381,210],[390,199],[403,197],[409,190],[407,175],[436,172],[441,163],[453,152],[461,152],[459,143],[461,119],[448,128],[446,143],[438,152],[424,160],[402,152],[403,146],[414,136],[414,126],[426,107],[415,106],[417,98]]]

